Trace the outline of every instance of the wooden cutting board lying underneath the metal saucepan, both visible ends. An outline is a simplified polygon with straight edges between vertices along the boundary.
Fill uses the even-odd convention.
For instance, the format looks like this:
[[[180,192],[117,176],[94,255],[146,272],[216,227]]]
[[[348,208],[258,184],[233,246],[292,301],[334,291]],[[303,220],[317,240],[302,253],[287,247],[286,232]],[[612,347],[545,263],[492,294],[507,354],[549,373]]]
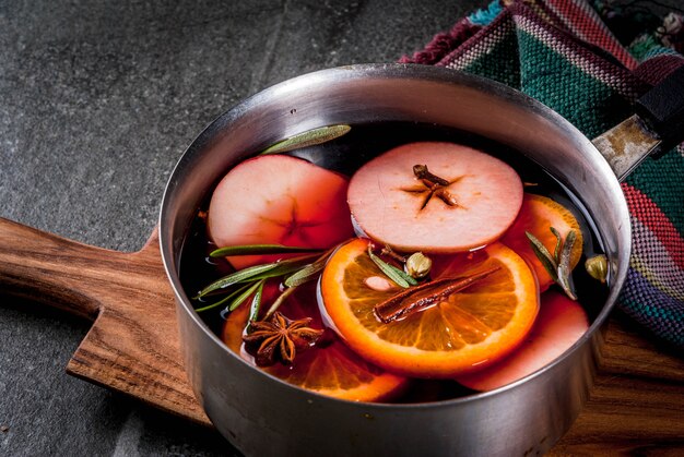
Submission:
[[[0,218],[0,288],[94,321],[68,373],[211,426],[182,368],[156,231],[121,253]],[[684,453],[684,358],[614,316],[591,397],[551,454],[632,452]]]

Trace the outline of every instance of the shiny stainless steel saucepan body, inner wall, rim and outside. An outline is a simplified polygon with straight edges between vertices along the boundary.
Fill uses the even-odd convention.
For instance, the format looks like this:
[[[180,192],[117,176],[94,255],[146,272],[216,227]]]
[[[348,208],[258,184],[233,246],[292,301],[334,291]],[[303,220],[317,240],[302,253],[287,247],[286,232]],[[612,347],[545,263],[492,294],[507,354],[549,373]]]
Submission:
[[[192,311],[178,278],[179,253],[198,206],[226,170],[299,132],[378,121],[434,123],[512,147],[580,197],[603,240],[612,286],[587,335],[552,365],[498,390],[455,400],[353,404],[316,396],[251,369]],[[620,184],[591,142],[573,125],[500,84],[447,69],[403,64],[307,74],[270,87],[220,117],[192,143],[169,179],[160,239],[177,296],[190,382],[217,429],[247,454],[269,450],[267,441],[298,455],[321,448],[340,454],[392,449],[424,454],[425,440],[436,443],[431,447],[436,454],[551,447],[587,395],[600,327],[624,281],[630,251]],[[335,418],[334,428],[322,424],[330,417]],[[290,424],[299,420],[306,425],[295,425],[291,435]],[[409,428],[414,432],[401,433],[400,429]],[[373,444],[373,436],[384,436],[384,444]]]

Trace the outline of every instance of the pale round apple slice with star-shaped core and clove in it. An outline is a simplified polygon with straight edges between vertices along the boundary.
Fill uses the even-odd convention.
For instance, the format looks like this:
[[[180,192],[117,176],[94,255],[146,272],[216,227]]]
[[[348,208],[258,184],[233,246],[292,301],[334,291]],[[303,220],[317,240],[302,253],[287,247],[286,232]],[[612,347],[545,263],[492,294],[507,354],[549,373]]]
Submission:
[[[361,167],[347,201],[365,236],[399,251],[452,253],[482,248],[508,229],[522,204],[522,182],[480,151],[411,143]]]

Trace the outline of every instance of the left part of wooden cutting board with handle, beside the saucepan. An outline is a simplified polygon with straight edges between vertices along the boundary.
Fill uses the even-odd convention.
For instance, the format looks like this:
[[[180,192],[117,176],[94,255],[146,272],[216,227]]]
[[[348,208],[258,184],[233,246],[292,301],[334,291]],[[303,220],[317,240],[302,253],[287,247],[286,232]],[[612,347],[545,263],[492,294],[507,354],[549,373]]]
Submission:
[[[94,321],[70,374],[210,423],[182,368],[156,230],[123,253],[0,218],[0,290]]]

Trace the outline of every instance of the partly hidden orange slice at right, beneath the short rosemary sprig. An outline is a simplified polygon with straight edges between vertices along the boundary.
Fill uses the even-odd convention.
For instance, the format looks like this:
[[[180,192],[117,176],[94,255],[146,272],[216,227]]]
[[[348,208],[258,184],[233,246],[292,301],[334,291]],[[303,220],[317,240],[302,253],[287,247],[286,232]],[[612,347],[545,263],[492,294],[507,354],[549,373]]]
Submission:
[[[577,239],[570,254],[570,267],[575,268],[582,255],[582,232],[579,224],[568,208],[546,196],[526,193],[518,217],[502,238],[504,244],[532,265],[542,292],[554,281],[532,251],[524,232],[529,231],[536,237],[553,255],[556,237],[551,232],[551,227],[558,230],[564,240],[570,230],[575,230]]]

